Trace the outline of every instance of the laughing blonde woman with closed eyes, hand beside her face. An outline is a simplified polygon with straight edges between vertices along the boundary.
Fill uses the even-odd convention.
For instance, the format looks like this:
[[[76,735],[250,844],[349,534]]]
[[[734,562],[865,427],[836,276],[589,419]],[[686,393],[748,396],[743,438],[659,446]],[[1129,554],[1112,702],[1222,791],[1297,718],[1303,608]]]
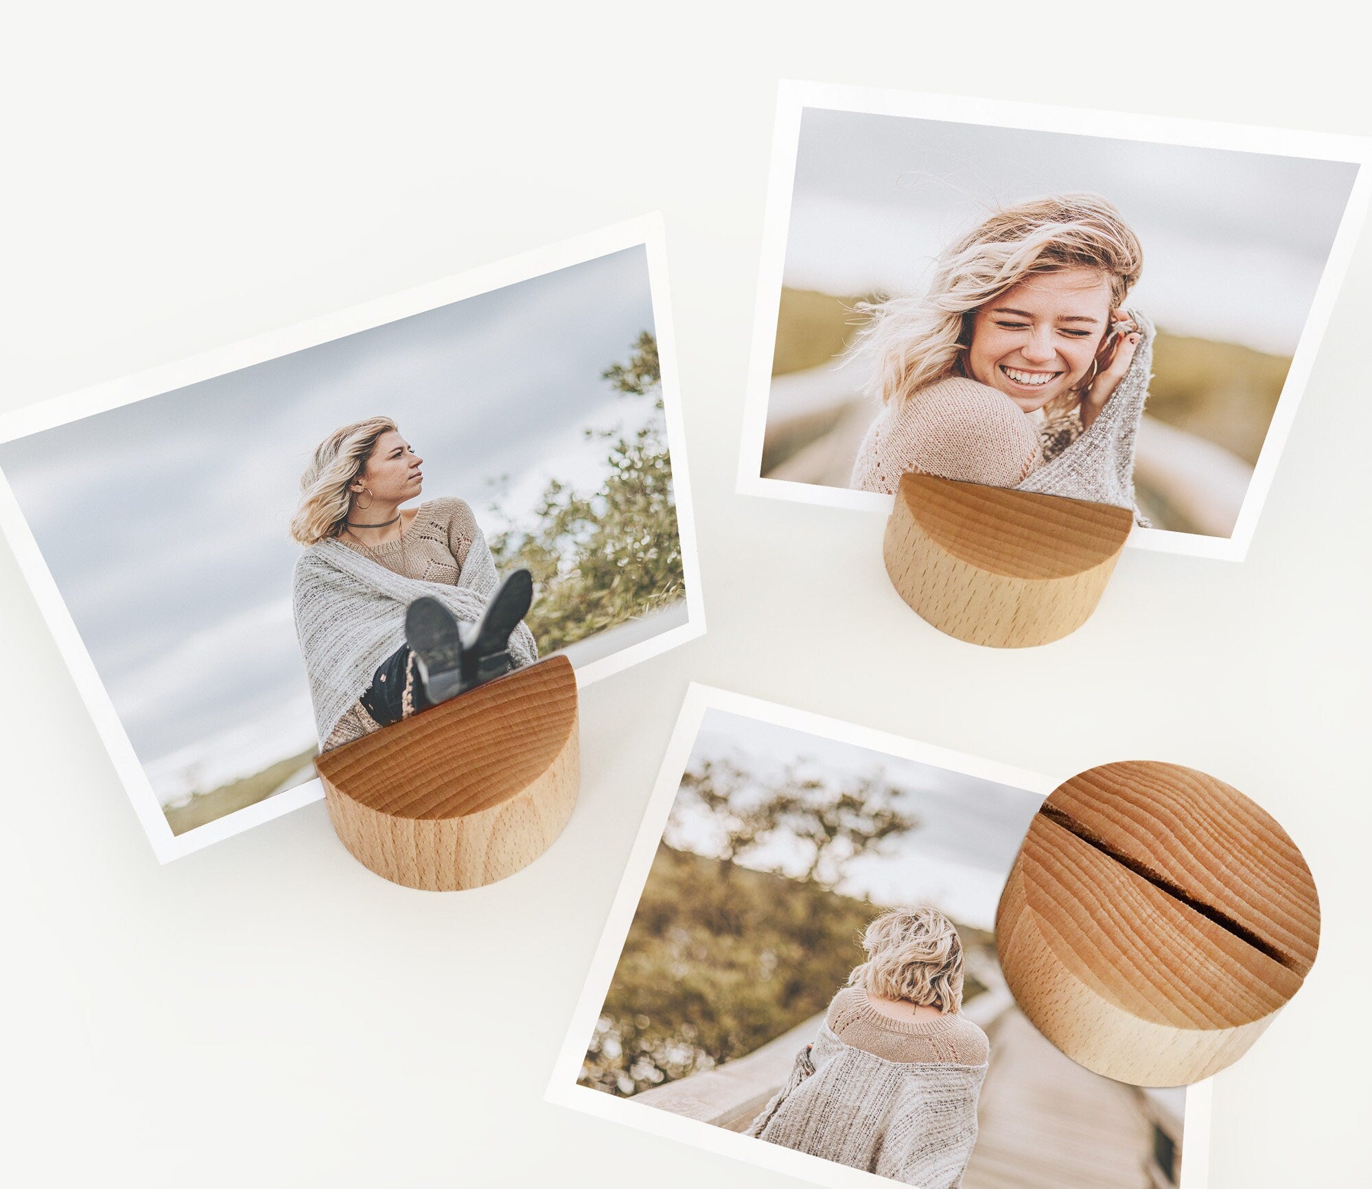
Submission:
[[[1152,325],[1125,309],[1143,250],[1120,211],[1066,193],[996,211],[927,292],[866,307],[882,409],[851,487],[907,470],[1135,507]]]

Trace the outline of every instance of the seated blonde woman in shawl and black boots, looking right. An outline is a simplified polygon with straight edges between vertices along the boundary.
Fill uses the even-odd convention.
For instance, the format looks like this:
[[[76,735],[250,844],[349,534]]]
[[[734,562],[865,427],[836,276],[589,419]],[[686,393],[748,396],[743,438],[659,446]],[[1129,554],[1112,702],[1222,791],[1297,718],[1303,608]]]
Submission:
[[[418,498],[423,464],[372,417],[335,429],[300,477],[292,594],[321,750],[538,658],[528,571],[498,586],[461,499],[401,506]]]

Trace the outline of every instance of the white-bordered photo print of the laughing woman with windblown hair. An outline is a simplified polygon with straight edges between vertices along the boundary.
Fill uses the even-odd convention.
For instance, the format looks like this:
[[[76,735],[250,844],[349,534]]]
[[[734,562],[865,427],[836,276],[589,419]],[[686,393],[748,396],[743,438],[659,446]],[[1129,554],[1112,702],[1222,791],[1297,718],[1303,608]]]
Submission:
[[[906,472],[1242,560],[1367,210],[1367,141],[783,84],[740,490]]]

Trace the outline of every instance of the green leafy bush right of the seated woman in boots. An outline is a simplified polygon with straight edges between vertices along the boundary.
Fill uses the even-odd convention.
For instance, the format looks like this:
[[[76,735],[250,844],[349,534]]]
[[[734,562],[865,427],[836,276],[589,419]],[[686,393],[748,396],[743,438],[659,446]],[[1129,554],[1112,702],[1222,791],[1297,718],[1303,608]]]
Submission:
[[[657,340],[650,332],[638,336],[627,362],[612,363],[601,376],[627,396],[652,398],[654,411],[663,411]],[[685,597],[663,418],[654,416],[628,435],[587,429],[586,436],[609,443],[604,487],[583,494],[554,479],[530,524],[490,539],[501,571],[523,565],[534,576],[525,623],[539,654]]]

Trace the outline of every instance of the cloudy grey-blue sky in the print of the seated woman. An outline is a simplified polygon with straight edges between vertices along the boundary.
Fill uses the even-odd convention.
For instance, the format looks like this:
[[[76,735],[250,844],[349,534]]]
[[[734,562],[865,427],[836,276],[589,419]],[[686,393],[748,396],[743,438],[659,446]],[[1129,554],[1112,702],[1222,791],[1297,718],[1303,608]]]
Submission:
[[[423,498],[466,499],[490,532],[488,480],[509,476],[516,512],[550,475],[600,487],[583,429],[648,409],[601,372],[652,329],[646,252],[628,248],[0,444],[159,795],[169,756],[206,752],[213,780],[215,757],[313,741],[287,525],[318,442],[394,417]]]

